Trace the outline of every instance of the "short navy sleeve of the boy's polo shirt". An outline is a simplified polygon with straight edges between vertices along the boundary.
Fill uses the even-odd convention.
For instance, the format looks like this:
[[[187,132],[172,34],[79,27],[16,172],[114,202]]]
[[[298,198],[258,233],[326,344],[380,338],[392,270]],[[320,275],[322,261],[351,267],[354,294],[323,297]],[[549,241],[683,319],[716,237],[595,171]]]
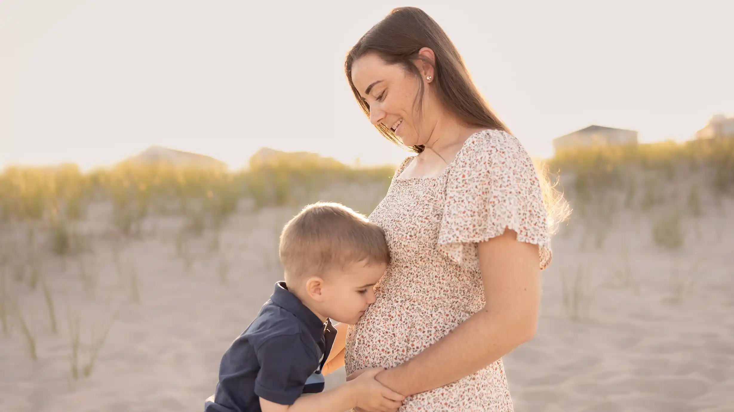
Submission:
[[[315,349],[309,350],[299,335],[274,336],[255,353],[260,364],[255,394],[280,405],[293,405],[308,377],[319,367]]]

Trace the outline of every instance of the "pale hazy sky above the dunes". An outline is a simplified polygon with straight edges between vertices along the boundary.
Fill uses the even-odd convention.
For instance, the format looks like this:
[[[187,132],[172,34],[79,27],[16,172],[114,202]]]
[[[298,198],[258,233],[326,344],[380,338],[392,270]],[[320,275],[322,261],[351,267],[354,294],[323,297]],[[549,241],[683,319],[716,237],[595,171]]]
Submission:
[[[396,163],[343,63],[402,5],[443,27],[531,155],[591,124],[683,140],[734,114],[734,1],[252,3],[0,0],[0,168],[152,144],[233,169],[263,146]]]

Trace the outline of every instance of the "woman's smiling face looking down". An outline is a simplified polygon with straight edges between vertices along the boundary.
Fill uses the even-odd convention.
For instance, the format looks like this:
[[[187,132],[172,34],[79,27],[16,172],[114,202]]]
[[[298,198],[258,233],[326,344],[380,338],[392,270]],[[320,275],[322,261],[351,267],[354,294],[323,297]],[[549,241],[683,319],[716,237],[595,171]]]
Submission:
[[[432,125],[425,119],[431,119],[432,96],[426,76],[424,81],[423,115],[418,117],[416,96],[418,81],[415,75],[401,65],[388,65],[376,54],[366,54],[352,64],[352,83],[370,108],[370,122],[373,125],[382,123],[395,131],[395,136],[406,146],[425,144]]]

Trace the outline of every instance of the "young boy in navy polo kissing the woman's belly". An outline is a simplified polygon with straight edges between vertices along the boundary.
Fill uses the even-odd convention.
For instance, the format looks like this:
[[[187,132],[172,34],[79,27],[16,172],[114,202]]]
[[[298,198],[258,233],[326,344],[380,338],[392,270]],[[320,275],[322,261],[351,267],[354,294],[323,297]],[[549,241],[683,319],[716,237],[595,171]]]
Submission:
[[[379,368],[324,392],[324,372],[344,365],[346,326],[374,303],[390,262],[382,229],[348,207],[316,203],[283,228],[279,254],[286,282],[222,357],[205,412],[396,411],[404,397],[374,379]]]

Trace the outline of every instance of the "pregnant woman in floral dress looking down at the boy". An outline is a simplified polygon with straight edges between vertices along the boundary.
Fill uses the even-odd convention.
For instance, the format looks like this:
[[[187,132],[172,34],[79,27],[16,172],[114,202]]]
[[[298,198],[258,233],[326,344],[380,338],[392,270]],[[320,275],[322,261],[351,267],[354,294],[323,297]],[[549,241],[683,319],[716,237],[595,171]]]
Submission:
[[[562,198],[422,10],[392,10],[345,70],[377,130],[418,153],[370,216],[393,261],[349,328],[346,372],[385,367],[401,411],[512,411],[501,357],[534,336]]]

